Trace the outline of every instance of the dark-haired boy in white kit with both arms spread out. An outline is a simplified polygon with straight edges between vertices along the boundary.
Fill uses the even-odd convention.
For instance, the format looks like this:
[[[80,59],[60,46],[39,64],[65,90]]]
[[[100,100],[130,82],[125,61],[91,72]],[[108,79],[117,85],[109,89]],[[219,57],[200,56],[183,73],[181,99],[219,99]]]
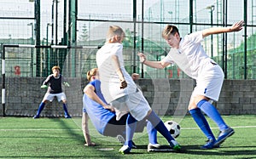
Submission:
[[[207,144],[201,146],[202,149],[219,147],[235,131],[224,122],[217,109],[212,105],[212,100],[218,101],[224,73],[221,67],[206,54],[201,42],[204,37],[212,34],[241,31],[243,24],[244,22],[241,20],[230,27],[213,27],[191,33],[184,38],[180,37],[176,26],[167,25],[162,31],[162,37],[170,45],[171,50],[163,60],[149,61],[145,54],[138,53],[140,61],[144,65],[162,69],[167,65],[176,64],[189,77],[195,79],[196,86],[189,101],[189,113],[207,136]],[[217,123],[220,130],[218,139],[215,139],[201,111]]]

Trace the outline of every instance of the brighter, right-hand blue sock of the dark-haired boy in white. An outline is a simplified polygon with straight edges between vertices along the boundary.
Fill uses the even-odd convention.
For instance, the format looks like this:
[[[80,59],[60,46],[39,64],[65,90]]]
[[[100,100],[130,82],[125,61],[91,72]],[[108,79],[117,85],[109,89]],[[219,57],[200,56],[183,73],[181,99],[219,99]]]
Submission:
[[[218,110],[206,99],[202,99],[198,104],[197,107],[201,109],[204,113],[207,114],[216,124],[220,131],[229,128],[227,124],[224,122],[223,118],[218,113]]]

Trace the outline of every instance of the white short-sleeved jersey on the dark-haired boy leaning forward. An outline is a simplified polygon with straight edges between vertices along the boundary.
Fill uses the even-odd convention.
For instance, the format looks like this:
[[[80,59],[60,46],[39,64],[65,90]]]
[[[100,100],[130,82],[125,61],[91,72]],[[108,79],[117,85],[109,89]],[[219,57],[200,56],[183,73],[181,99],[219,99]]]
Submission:
[[[168,63],[175,63],[189,77],[197,80],[204,67],[214,62],[201,46],[202,31],[197,31],[185,36],[179,43],[179,48],[171,48],[163,59]]]

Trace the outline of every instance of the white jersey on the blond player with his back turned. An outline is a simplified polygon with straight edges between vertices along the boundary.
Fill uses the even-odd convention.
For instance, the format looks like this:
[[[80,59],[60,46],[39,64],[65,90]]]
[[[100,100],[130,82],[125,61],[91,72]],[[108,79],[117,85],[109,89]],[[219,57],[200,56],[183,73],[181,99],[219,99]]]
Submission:
[[[120,69],[128,84],[128,87],[125,89],[120,88],[119,76],[116,73],[117,68],[113,65],[113,55],[118,57]],[[96,63],[102,82],[102,94],[108,103],[112,102],[114,99],[136,92],[137,86],[135,82],[133,82],[129,73],[125,71],[123,45],[121,43],[106,43],[96,53]]]

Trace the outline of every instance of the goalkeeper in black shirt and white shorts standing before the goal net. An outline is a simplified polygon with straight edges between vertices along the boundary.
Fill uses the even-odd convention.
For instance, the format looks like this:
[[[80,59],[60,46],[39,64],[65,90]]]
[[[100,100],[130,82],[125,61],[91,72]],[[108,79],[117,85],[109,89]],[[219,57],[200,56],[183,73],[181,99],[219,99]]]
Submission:
[[[41,88],[48,88],[46,94],[44,95],[44,99],[42,100],[41,104],[39,105],[37,115],[33,118],[39,118],[41,111],[44,109],[44,105],[46,102],[52,102],[53,99],[56,97],[58,101],[62,101],[63,103],[63,110],[65,114],[65,118],[71,118],[71,116],[67,112],[67,97],[66,94],[62,91],[61,84],[63,83],[65,86],[69,87],[69,84],[65,82],[64,77],[61,76],[60,71],[61,68],[59,66],[52,67],[53,74],[49,75],[44,82]],[[49,84],[49,87],[47,86]]]

